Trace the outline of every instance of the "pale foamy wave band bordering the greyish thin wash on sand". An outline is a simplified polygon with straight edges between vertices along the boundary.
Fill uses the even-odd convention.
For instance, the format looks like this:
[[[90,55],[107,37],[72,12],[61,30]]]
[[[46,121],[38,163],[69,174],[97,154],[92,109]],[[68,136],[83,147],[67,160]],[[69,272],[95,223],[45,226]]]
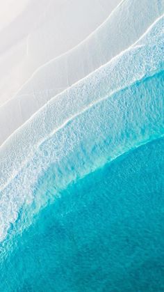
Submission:
[[[162,67],[163,17],[151,26],[139,43],[51,99],[10,136],[0,151],[1,189],[17,175],[42,141],[51,136],[65,121],[83,112],[94,102],[108,98],[133,82],[162,70]],[[12,157],[9,155],[11,152]]]

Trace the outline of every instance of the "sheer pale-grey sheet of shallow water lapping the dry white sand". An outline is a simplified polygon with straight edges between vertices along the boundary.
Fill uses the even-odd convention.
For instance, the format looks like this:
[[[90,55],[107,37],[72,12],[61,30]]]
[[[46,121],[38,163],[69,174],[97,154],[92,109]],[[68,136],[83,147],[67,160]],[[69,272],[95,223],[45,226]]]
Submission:
[[[132,9],[136,10],[136,13],[139,13],[140,15],[140,10],[143,9],[143,11],[145,11],[144,9],[146,3],[147,0],[144,0],[140,9],[136,10],[136,1],[134,1],[134,7]],[[151,2],[151,6],[153,3],[156,3],[156,0]],[[129,1],[122,4],[122,8],[117,9],[117,13],[115,13],[115,17],[117,17],[120,21],[122,12],[126,10],[127,6],[129,6]],[[151,10],[151,6],[149,10]],[[140,36],[140,33],[144,31],[143,28],[147,28],[147,25],[152,22],[154,17],[161,13],[162,9],[159,9],[158,12],[157,7],[156,9],[154,8],[155,12],[152,15],[149,15],[149,10],[147,10],[147,15],[145,15],[145,24],[142,26],[142,29],[139,28],[137,34],[135,33],[135,24],[131,23],[131,18],[133,17],[127,17],[128,23],[132,25],[131,29],[133,33],[132,36],[127,35],[128,40],[125,41],[125,45],[124,42],[122,43],[124,37],[121,40],[121,45],[120,43],[115,43],[115,40],[117,40],[118,36],[121,35],[121,32],[124,36],[126,26],[123,26],[123,29],[116,33],[116,36],[113,38],[111,32],[115,31],[115,17],[112,17],[110,18],[110,22],[106,22],[106,25],[108,24],[108,26],[104,26],[104,30],[102,31],[101,29],[99,30],[99,34],[96,34],[97,38],[90,38],[90,42],[85,42],[85,46],[80,47],[81,49],[79,48],[79,50],[76,49],[74,54],[67,54],[67,59],[64,58],[63,60],[62,58],[59,58],[56,62],[49,63],[49,66],[44,66],[44,69],[40,69],[38,74],[31,79],[31,82],[28,82],[28,84],[24,86],[24,89],[19,92],[19,95],[15,96],[13,100],[10,100],[8,104],[0,108],[0,126],[3,129],[3,125],[7,125],[1,132],[0,144],[3,143],[3,141],[5,141],[12,134],[12,132],[19,128],[20,125],[25,123],[28,118],[37,112],[47,102],[47,100],[53,98],[53,96],[66,89],[69,85],[72,86],[72,84],[76,84],[79,79],[83,79],[83,77],[90,74],[91,71],[99,68],[102,63],[107,63],[107,61],[110,61],[113,55],[115,56],[115,54],[120,52],[121,48],[126,49],[126,47],[129,47],[128,44],[131,44],[132,40],[136,40],[136,38]],[[142,17],[138,18],[138,22],[140,19],[142,20]],[[116,22],[116,27],[117,25],[118,24]],[[113,42],[114,46],[112,45]],[[99,48],[95,50],[95,47],[97,46]],[[105,57],[101,54],[102,49],[104,49]],[[94,54],[90,56],[90,52],[94,52]],[[89,56],[90,58],[88,60]],[[77,63],[74,62],[74,60],[80,61]],[[74,65],[74,63],[76,64]],[[83,64],[85,64],[85,66],[83,66]],[[6,116],[8,116],[8,121]]]

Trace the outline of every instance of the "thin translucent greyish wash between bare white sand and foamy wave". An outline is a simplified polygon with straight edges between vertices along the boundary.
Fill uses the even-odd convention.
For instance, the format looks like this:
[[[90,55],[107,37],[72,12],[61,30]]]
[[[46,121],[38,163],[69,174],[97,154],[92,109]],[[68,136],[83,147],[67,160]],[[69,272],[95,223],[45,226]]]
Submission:
[[[131,16],[127,15],[127,9],[131,9]],[[1,143],[54,95],[72,86],[132,45],[152,22],[162,15],[163,10],[163,1],[154,0],[148,4],[145,0],[140,6],[138,1],[133,1],[133,6],[129,0],[122,1],[106,22],[87,39],[63,56],[39,68],[13,99],[0,107],[0,125],[8,125],[3,135],[1,134]],[[136,22],[133,22],[136,14],[138,17]]]

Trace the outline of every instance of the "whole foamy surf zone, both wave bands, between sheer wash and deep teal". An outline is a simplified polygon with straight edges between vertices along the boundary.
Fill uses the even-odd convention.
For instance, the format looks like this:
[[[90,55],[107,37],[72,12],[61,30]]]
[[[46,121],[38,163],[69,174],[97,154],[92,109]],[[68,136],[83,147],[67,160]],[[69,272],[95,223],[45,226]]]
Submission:
[[[48,102],[3,144],[1,240],[23,206],[33,217],[73,180],[163,135],[163,25],[160,17],[136,45]],[[38,190],[49,168],[47,188]]]

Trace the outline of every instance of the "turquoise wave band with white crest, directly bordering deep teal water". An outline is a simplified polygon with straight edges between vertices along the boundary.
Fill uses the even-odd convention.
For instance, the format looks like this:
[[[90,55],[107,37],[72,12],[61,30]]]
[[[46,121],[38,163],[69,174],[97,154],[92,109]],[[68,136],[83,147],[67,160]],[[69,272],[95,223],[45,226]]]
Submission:
[[[32,217],[73,180],[163,135],[163,84],[163,72],[133,84],[90,107],[44,141],[1,191],[1,240],[24,204]]]

